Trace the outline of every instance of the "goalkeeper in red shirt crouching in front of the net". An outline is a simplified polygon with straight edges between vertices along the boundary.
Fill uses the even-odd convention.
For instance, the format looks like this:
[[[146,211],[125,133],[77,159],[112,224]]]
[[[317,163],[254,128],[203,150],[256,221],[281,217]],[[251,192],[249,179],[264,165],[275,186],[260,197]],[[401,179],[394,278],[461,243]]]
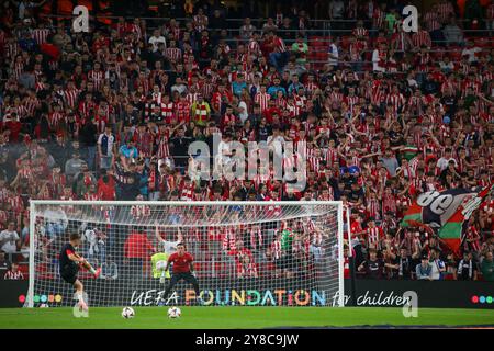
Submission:
[[[197,299],[200,304],[202,304],[202,298],[201,296],[199,296],[199,283],[195,279],[194,267],[192,262],[192,254],[186,252],[186,247],[182,242],[179,242],[177,245],[177,252],[170,254],[164,269],[164,271],[166,272],[170,263],[173,263],[170,284],[166,288],[165,294],[162,295],[162,299],[165,299],[173,288],[173,286],[183,279],[186,282],[192,284],[192,286],[194,287]]]

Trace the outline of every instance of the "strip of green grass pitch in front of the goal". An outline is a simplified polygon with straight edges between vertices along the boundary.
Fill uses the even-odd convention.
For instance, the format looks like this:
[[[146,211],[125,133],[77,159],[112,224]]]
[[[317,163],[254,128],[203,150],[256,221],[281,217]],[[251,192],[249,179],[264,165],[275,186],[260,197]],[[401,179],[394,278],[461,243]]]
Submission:
[[[401,308],[381,307],[181,307],[182,317],[167,318],[166,307],[136,307],[133,319],[123,319],[120,307],[93,307],[89,318],[76,318],[71,308],[0,308],[0,329],[236,329],[274,327],[350,326],[464,326],[494,325],[494,310],[420,308],[417,318],[405,318]]]

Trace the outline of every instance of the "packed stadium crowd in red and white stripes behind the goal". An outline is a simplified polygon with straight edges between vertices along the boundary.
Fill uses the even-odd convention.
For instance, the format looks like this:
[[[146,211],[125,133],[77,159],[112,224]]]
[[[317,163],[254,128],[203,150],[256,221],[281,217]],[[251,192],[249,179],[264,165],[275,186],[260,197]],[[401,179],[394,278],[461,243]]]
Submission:
[[[187,3],[184,19],[115,18],[89,33],[2,3],[3,252],[29,246],[30,199],[341,200],[358,276],[494,280],[494,199],[474,212],[462,257],[427,228],[400,228],[418,194],[493,181],[494,4],[472,16],[439,0],[406,33],[405,3],[332,0],[330,20],[355,21],[324,36],[302,8],[231,31],[224,7]],[[306,141],[305,190],[189,177],[189,145],[217,132]]]

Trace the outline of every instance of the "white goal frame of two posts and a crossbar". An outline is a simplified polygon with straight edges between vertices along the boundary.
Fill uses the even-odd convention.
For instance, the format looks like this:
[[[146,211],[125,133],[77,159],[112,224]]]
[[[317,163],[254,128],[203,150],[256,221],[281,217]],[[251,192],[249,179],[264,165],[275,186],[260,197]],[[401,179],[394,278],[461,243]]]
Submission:
[[[64,201],[64,200],[30,200],[30,273],[29,273],[29,287],[26,296],[26,307],[34,307],[34,280],[35,280],[35,219],[36,219],[36,206],[37,205],[158,205],[158,206],[209,206],[209,205],[225,205],[225,206],[283,206],[283,205],[296,205],[296,206],[314,206],[314,205],[332,205],[337,208],[338,218],[338,307],[345,307],[345,281],[344,281],[344,207],[341,201]]]

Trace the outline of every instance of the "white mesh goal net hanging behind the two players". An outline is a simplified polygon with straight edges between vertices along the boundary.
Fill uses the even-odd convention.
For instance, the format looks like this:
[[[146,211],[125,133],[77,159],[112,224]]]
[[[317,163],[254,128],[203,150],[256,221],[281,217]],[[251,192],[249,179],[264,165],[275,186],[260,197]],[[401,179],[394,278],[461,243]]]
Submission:
[[[70,233],[99,279],[78,278],[90,306],[195,305],[181,281],[164,296],[162,263],[180,241],[205,306],[343,306],[340,202],[31,201],[26,306],[74,306],[58,256]]]

